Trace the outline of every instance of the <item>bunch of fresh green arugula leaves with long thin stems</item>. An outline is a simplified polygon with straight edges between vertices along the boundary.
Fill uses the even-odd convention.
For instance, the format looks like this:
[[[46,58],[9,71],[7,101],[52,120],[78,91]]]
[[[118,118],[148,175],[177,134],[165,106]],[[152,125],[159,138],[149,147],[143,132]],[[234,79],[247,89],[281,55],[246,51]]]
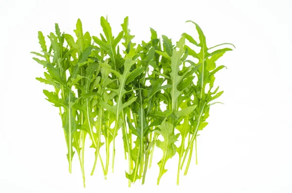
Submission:
[[[217,66],[216,62],[232,50],[216,48],[233,45],[223,43],[208,48],[199,25],[187,22],[195,25],[199,41],[186,33],[176,43],[166,35],[162,35],[161,40],[150,28],[148,42],[133,43],[128,17],[117,35],[112,34],[110,23],[104,17],[100,19],[103,29],[100,37],[83,33],[80,19],[74,30],[76,37],[61,33],[58,24],[55,24],[55,34],[48,35],[47,42],[42,32],[38,32],[41,53],[32,52],[37,55],[33,59],[46,72],[44,78],[37,80],[55,88],[43,92],[46,99],[59,108],[68,148],[69,172],[76,152],[84,187],[87,135],[90,147],[95,150],[91,175],[99,159],[106,178],[110,158],[112,171],[114,168],[115,139],[121,129],[128,159],[128,186],[141,178],[142,184],[145,183],[155,147],[163,152],[158,162],[157,184],[167,171],[167,160],[176,153],[179,184],[183,166],[186,166],[184,175],[190,166],[194,144],[197,162],[198,132],[207,126],[210,106],[219,103],[213,101],[223,93],[219,87],[213,89],[215,73],[225,68]],[[200,52],[191,49],[189,43],[199,47]],[[166,106],[164,111],[162,104]],[[105,154],[100,152],[102,146],[105,146]]]

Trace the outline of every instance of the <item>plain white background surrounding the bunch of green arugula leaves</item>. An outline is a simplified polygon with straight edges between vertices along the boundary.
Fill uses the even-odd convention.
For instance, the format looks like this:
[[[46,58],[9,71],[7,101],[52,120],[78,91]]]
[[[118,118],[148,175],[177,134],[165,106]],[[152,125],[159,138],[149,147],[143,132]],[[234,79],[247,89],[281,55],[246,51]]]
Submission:
[[[292,3],[289,0],[1,0],[0,1],[0,193],[93,192],[292,192]],[[198,137],[199,164],[192,160],[176,185],[177,155],[156,185],[161,152],[156,148],[146,184],[128,188],[127,161],[118,147],[115,173],[103,179],[100,165],[90,176],[93,150],[86,152],[82,185],[77,157],[68,172],[58,109],[44,98],[49,88],[35,77],[44,69],[33,61],[40,51],[37,31],[73,34],[77,18],[84,32],[99,36],[100,17],[108,15],[113,34],[129,16],[134,42],[150,39],[149,27],[173,42],[183,32],[196,36],[197,22],[211,47],[231,42],[237,49],[216,84],[224,90],[209,125]],[[119,144],[121,140],[118,139]]]

